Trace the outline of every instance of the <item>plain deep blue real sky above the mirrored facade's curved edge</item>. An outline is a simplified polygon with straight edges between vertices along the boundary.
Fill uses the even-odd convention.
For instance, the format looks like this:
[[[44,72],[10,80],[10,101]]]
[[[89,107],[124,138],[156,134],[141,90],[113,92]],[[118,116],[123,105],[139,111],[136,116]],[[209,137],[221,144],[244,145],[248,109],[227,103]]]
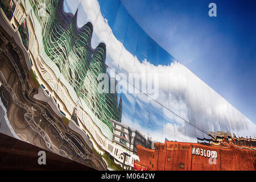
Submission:
[[[121,0],[160,46],[256,123],[256,1]],[[217,5],[217,17],[208,5]]]

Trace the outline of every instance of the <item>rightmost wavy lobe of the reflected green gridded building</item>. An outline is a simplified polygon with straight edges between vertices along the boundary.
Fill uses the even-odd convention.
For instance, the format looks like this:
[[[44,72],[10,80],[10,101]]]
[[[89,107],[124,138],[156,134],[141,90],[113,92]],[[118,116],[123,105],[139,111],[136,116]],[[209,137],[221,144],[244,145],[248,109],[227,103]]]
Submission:
[[[97,90],[98,84],[100,83],[98,75],[100,73],[106,73],[106,65],[102,61],[105,60],[105,52],[106,46],[104,43],[100,43],[94,50],[84,80],[84,92],[82,92],[82,94],[84,100],[86,100],[87,104],[93,109],[93,113],[101,119],[102,122],[112,126],[109,118],[116,121],[119,121],[119,118],[121,118],[118,111],[117,94],[110,93],[110,87],[107,93],[99,93]]]

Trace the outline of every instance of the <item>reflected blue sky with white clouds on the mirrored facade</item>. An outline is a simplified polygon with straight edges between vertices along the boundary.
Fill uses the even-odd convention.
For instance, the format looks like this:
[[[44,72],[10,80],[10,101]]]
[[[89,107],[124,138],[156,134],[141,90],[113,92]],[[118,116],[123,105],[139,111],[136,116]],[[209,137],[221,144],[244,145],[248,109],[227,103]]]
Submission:
[[[152,40],[121,1],[84,0],[78,9],[82,9],[79,17],[86,19],[78,18],[80,26],[88,21],[94,24],[92,45],[106,44],[110,69],[123,77],[129,73],[158,75],[157,98],[152,99],[148,90],[120,94],[122,123],[156,142],[196,142],[197,137],[208,139],[218,131],[230,137],[255,137],[255,124]]]

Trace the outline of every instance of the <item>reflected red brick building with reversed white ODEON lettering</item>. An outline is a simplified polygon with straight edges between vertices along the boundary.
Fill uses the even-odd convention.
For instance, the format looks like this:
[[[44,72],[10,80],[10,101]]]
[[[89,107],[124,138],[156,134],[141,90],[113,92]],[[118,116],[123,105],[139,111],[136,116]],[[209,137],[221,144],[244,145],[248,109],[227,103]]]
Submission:
[[[255,141],[251,142],[241,145],[233,138],[224,138],[218,145],[166,141],[155,143],[155,150],[138,145],[140,162],[134,163],[134,169],[139,164],[151,171],[255,170]]]

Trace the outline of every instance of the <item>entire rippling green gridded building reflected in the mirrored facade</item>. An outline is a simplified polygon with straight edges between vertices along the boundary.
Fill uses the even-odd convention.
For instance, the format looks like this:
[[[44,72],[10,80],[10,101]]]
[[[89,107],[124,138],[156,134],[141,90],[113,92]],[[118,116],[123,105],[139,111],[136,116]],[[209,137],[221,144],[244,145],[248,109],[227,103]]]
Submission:
[[[65,13],[63,2],[34,1],[35,4],[46,3],[49,13],[47,18],[39,18],[44,27],[44,49],[77,96],[112,131],[110,119],[120,121],[121,118],[117,94],[97,90],[98,75],[106,73],[106,46],[100,43],[96,49],[91,47],[92,23],[77,27],[77,11],[75,15]]]

